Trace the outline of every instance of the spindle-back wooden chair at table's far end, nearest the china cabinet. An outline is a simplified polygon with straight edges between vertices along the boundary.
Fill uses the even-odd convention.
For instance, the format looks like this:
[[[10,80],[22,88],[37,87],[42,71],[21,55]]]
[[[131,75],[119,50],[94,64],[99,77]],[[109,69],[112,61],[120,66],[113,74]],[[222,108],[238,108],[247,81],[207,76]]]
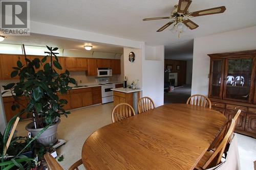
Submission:
[[[187,100],[187,104],[211,108],[210,100],[201,94],[191,95]]]

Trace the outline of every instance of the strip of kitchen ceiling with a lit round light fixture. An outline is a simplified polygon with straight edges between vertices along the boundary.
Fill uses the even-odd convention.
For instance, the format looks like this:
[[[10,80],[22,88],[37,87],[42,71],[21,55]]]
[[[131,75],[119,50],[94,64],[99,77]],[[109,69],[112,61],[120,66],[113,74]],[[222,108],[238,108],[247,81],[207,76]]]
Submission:
[[[123,54],[123,47],[103,43],[84,42],[61,37],[30,34],[30,36],[8,36],[2,43],[25,44],[34,46],[53,46],[70,50],[84,50],[84,45],[92,45],[92,51]]]

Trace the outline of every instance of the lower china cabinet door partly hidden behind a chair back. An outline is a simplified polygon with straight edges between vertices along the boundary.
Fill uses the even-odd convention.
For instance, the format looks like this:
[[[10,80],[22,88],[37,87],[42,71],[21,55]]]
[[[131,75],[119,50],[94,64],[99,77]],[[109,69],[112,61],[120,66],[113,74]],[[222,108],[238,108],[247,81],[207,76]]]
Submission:
[[[237,111],[235,110],[226,110],[225,111],[225,116],[227,117],[228,120],[230,120],[231,118],[234,117],[234,115],[237,113]],[[237,125],[236,125],[236,130],[239,131],[244,131],[245,128],[245,116],[246,113],[245,112],[241,112],[238,120],[237,120]]]

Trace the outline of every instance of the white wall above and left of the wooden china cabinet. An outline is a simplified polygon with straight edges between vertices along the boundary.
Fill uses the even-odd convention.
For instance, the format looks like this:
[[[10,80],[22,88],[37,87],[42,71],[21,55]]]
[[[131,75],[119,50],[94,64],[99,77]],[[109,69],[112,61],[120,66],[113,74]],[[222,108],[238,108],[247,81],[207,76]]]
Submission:
[[[191,94],[208,94],[210,58],[207,54],[256,49],[256,27],[194,39]]]

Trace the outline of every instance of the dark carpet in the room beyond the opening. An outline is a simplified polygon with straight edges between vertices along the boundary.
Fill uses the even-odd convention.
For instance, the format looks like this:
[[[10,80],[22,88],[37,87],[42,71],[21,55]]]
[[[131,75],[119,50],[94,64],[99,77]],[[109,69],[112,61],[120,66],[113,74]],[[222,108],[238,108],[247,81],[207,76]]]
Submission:
[[[191,95],[191,85],[184,85],[175,88],[174,91],[164,93],[164,104],[168,103],[186,103]]]

